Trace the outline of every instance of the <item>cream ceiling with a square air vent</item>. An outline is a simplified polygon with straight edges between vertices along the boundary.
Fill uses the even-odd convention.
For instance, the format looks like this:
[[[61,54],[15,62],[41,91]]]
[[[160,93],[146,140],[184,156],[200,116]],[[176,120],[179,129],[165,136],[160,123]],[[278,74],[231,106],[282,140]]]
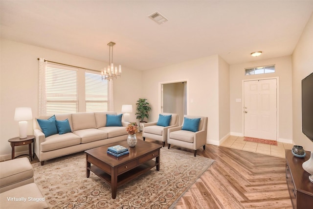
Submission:
[[[168,21],[148,18],[156,11]],[[228,64],[291,55],[312,12],[313,0],[0,0],[0,29],[104,62],[112,41],[114,64],[149,70],[214,54]]]

